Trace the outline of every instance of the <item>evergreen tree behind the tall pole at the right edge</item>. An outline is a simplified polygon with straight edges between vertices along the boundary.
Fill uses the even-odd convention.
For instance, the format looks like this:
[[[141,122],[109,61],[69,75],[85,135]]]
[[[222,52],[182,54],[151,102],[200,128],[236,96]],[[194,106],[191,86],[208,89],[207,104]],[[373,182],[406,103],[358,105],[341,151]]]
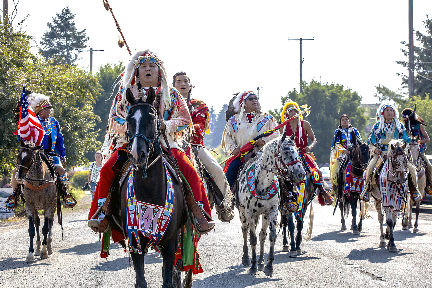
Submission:
[[[427,93],[432,91],[432,19],[426,15],[426,20],[423,21],[425,28],[424,33],[416,31],[416,39],[421,44],[419,47],[414,47],[414,69],[416,75],[414,77],[414,95],[426,97]],[[408,47],[406,41],[400,42]],[[408,49],[402,49],[403,55],[408,58]],[[408,61],[397,61],[396,63],[403,67],[408,67]],[[408,76],[403,73],[397,73],[402,77],[402,88],[408,87]]]

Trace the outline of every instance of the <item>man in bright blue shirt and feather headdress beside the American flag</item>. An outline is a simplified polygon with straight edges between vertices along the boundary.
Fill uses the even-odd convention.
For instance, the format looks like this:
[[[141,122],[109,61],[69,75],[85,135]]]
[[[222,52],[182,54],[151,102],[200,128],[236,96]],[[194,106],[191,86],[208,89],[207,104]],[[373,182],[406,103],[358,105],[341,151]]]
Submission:
[[[43,94],[27,91],[27,101],[29,102],[29,105],[32,107],[33,111],[38,117],[39,122],[45,130],[44,139],[42,140],[41,145],[43,145],[42,149],[44,149],[44,154],[46,157],[53,161],[57,176],[61,180],[63,187],[63,191],[61,192],[64,200],[63,205],[66,208],[72,208],[76,205],[76,201],[69,199],[73,197],[67,192],[67,189],[69,188],[69,181],[67,179],[66,171],[63,167],[63,165],[66,165],[63,134],[60,131],[60,125],[58,121],[54,117],[50,117],[52,109],[50,99],[48,96]],[[16,138],[19,141],[20,136],[18,135]],[[21,184],[18,185],[15,174],[16,168],[13,169],[12,175],[13,194],[5,203],[5,207],[10,209],[15,208],[16,198],[19,197],[19,194],[21,193]]]

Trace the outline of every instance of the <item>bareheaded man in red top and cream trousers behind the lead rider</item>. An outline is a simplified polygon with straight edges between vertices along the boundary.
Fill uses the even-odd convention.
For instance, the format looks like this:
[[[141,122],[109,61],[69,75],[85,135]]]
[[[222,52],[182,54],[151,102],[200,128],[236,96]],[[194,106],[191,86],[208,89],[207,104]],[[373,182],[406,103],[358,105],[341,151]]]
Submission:
[[[228,222],[234,218],[234,212],[231,210],[232,193],[229,189],[229,184],[226,180],[225,174],[223,173],[222,167],[206,149],[203,143],[204,134],[210,133],[209,108],[207,108],[203,101],[191,99],[191,79],[189,79],[189,76],[187,76],[185,72],[175,73],[172,78],[172,85],[181,93],[181,95],[184,95],[184,98],[186,98],[192,122],[194,123],[191,145],[196,148],[200,161],[203,163],[204,167],[209,172],[210,176],[213,178],[217,187],[224,196],[222,207],[216,208],[218,210],[219,220],[222,222]]]

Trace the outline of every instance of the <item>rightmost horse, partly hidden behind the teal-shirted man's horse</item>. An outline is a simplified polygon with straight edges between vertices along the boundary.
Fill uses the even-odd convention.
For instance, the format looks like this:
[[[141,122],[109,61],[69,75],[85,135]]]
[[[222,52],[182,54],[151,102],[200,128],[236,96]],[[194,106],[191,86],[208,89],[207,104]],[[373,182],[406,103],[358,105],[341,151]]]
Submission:
[[[417,175],[422,173],[422,176],[417,179],[417,185],[419,188],[420,193],[423,193],[423,191],[426,188],[426,167],[422,165],[422,161],[420,161],[419,155],[420,155],[420,146],[419,146],[419,137],[420,135],[417,135],[416,137],[411,137],[410,142],[410,152],[411,156],[413,157],[414,165],[417,166]],[[424,171],[424,172],[422,172]],[[408,197],[407,199],[407,208],[408,215],[403,216],[402,220],[402,230],[408,230],[408,228],[413,228],[412,223],[412,217],[413,217],[413,204],[414,202],[411,201],[411,198]],[[416,203],[416,222],[414,222],[414,229],[413,232],[419,231],[419,214],[420,214],[420,203]],[[408,217],[407,217],[408,216]]]

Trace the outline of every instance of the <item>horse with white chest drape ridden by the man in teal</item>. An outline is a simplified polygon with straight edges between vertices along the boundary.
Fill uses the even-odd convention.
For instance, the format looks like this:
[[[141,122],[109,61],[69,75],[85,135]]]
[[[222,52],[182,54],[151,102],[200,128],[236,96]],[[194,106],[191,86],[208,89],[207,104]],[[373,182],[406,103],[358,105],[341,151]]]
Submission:
[[[407,181],[407,154],[405,148],[407,143],[403,140],[391,140],[388,144],[389,148],[387,151],[387,161],[390,161],[388,165],[388,182],[396,182],[397,184],[403,184]],[[384,163],[385,165],[385,163]],[[408,190],[408,188],[406,189]],[[406,198],[408,191],[403,191],[403,197]],[[386,247],[385,238],[388,239],[387,249],[391,253],[397,252],[396,244],[394,243],[393,230],[396,225],[396,215],[390,207],[385,207],[384,212],[386,214],[387,229],[384,235],[384,229],[382,223],[384,221],[384,215],[381,212],[381,191],[380,184],[377,187],[372,188],[371,195],[375,199],[375,209],[378,212],[378,222],[381,228],[380,243],[379,247]],[[410,195],[408,195],[410,197]],[[367,203],[362,201],[362,218],[369,218],[367,211]]]

